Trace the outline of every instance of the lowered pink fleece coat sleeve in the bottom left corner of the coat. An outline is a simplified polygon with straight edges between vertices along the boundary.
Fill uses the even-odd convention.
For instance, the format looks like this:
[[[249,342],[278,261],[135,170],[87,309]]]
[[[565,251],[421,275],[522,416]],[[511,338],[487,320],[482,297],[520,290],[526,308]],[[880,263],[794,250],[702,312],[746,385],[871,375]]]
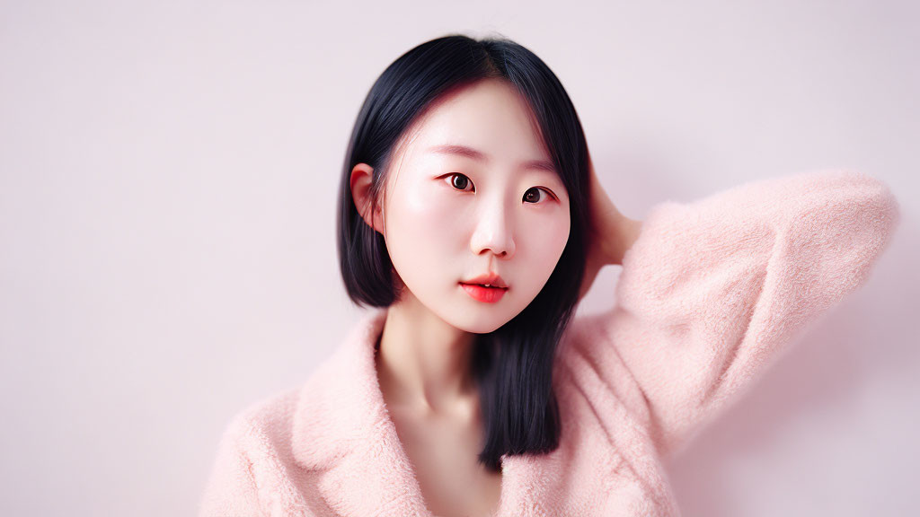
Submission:
[[[263,514],[259,509],[252,463],[241,447],[238,429],[238,425],[231,424],[224,431],[201,498],[199,517],[255,517]]]

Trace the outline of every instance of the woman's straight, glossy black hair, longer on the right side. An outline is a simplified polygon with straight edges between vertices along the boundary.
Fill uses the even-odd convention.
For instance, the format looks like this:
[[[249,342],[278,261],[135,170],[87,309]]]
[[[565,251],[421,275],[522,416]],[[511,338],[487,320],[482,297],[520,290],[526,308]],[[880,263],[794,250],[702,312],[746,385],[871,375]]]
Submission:
[[[374,167],[373,206],[386,184],[395,146],[432,102],[483,79],[507,81],[527,100],[546,151],[569,194],[569,241],[543,290],[511,321],[475,339],[486,441],[479,463],[500,471],[506,454],[558,448],[561,421],[552,387],[558,342],[578,304],[588,238],[588,145],[578,114],[556,75],[534,52],[504,37],[452,34],[401,55],[374,82],[358,113],[339,186],[339,267],[351,301],[388,307],[401,281],[384,237],[367,224],[351,195],[351,170]]]

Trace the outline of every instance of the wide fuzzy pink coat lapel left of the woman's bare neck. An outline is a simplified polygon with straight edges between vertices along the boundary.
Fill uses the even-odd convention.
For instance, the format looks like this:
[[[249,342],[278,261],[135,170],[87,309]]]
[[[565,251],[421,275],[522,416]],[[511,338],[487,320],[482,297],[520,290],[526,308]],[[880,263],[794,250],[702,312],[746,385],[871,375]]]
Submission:
[[[377,381],[374,344],[385,317],[385,309],[362,316],[305,384],[293,454],[320,473],[323,499],[342,516],[431,517]]]

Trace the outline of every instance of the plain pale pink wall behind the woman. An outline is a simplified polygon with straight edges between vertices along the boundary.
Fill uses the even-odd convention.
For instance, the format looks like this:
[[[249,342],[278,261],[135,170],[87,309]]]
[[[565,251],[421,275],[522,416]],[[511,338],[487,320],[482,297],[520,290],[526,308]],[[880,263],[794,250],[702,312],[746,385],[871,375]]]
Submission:
[[[868,0],[3,2],[0,513],[192,514],[228,419],[358,316],[334,216],[368,88],[493,30],[560,77],[629,216],[815,167],[891,186],[865,288],[669,466],[686,515],[914,513],[918,24]]]

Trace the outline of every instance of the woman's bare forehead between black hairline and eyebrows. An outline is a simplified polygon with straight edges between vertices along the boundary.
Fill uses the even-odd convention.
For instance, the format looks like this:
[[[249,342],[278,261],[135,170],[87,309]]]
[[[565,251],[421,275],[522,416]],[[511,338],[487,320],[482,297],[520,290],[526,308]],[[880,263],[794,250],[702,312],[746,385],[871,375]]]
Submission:
[[[514,86],[486,79],[445,95],[416,121],[400,147],[420,158],[434,145],[464,145],[512,165],[549,155],[533,112]]]

